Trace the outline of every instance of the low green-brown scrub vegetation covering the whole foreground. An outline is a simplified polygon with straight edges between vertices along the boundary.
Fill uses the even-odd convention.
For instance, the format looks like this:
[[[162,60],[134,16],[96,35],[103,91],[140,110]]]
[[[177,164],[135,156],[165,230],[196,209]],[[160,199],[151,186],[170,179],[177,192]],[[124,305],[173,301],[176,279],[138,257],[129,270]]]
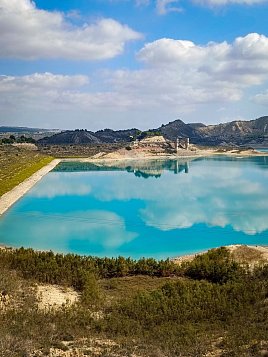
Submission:
[[[17,299],[16,308],[0,313],[0,356],[43,356],[52,347],[64,353],[74,346],[81,356],[95,356],[92,346],[100,340],[113,343],[98,348],[99,356],[267,354],[268,266],[250,271],[225,248],[181,266],[2,250],[0,265],[0,287]],[[26,294],[34,290],[23,288],[40,282],[73,286],[80,302],[40,311]]]

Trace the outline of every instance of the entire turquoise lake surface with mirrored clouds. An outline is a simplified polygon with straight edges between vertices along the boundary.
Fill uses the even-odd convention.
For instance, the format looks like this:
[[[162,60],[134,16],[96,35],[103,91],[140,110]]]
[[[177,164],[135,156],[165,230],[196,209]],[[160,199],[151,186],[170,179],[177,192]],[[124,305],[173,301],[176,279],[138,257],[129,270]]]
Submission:
[[[268,157],[63,163],[0,218],[0,243],[166,258],[268,244]]]

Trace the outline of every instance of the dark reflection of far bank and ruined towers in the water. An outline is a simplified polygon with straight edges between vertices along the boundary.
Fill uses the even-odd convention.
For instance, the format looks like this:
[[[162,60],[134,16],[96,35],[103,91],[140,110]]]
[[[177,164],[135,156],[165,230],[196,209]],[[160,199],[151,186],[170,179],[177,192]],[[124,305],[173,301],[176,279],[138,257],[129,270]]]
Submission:
[[[192,159],[198,160],[198,159]],[[192,160],[144,160],[144,161],[119,161],[92,163],[92,162],[61,162],[53,171],[56,172],[83,172],[83,171],[127,171],[134,173],[136,177],[160,177],[164,171],[172,171],[174,174],[188,173],[189,163]]]

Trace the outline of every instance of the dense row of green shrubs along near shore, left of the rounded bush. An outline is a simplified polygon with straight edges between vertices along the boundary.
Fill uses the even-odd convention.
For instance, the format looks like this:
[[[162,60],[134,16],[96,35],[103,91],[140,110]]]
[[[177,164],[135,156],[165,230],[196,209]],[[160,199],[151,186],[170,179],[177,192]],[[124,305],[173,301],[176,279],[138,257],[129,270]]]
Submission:
[[[133,275],[165,277],[181,274],[181,268],[168,259],[98,258],[37,252],[24,248],[2,250],[0,259],[6,267],[20,271],[24,278],[33,278],[43,283],[65,284],[77,290],[83,290],[87,274],[93,274],[97,278]]]

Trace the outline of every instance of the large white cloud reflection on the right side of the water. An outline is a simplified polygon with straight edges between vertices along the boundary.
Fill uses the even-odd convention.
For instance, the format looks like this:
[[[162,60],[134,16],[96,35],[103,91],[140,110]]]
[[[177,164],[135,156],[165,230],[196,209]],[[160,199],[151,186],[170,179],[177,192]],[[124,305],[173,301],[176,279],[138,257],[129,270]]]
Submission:
[[[235,231],[256,234],[268,229],[268,190],[264,173],[254,164],[233,161],[189,163],[190,173],[166,173],[163,179],[138,182],[117,176],[97,199],[145,202],[140,217],[148,226],[168,231],[198,223],[213,227],[232,226]],[[131,189],[130,189],[131,187]]]

